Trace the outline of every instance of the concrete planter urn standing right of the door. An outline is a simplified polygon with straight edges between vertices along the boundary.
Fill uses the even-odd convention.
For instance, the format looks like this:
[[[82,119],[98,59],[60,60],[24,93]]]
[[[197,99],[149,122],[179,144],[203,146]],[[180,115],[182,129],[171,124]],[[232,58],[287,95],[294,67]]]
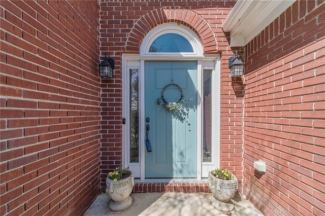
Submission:
[[[232,211],[235,205],[230,202],[236,194],[238,188],[238,179],[221,179],[209,172],[208,181],[209,189],[213,194],[211,204],[220,211]]]

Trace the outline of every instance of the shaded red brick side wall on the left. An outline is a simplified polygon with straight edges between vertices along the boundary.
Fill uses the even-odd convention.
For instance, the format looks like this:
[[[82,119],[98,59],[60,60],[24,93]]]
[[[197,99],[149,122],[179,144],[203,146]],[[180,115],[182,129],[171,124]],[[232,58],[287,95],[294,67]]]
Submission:
[[[1,215],[80,215],[99,193],[97,1],[1,4]]]

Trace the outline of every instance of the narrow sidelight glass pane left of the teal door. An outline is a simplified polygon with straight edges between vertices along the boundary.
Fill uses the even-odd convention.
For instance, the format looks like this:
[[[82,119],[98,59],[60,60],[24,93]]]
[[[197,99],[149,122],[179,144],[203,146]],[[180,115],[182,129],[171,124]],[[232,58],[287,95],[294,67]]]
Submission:
[[[130,69],[130,162],[139,162],[139,69]]]

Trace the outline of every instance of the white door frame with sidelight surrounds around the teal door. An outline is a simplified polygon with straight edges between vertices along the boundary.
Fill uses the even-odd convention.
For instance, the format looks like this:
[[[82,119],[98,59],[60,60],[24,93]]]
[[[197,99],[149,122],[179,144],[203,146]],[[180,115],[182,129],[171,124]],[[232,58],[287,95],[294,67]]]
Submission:
[[[123,54],[122,55],[122,112],[123,118],[125,118],[126,122],[123,125],[123,166],[129,168],[135,173],[136,178],[140,178],[140,182],[150,181],[153,179],[145,179],[145,110],[144,110],[144,62],[146,60],[197,60],[198,61],[198,126],[197,126],[197,180],[201,181],[202,178],[206,178],[208,176],[209,170],[212,170],[216,167],[219,167],[219,159],[220,159],[220,55],[207,55],[201,58],[193,58],[193,57],[148,57],[148,56],[140,56],[137,54]],[[129,69],[139,69],[139,163],[130,163],[129,162]],[[212,71],[212,92],[214,93],[212,99],[212,161],[202,163],[202,73],[203,69],[208,69]],[[187,181],[188,179],[179,179],[177,181]],[[155,179],[157,182],[161,181],[174,181],[173,179]],[[176,179],[175,179],[176,181]],[[191,179],[192,181],[192,179]]]

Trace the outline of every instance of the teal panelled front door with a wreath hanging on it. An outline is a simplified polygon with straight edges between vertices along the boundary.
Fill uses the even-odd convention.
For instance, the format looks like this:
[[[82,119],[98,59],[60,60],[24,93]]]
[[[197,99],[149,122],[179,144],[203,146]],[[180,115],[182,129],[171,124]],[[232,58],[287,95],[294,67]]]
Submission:
[[[182,91],[186,111],[170,113],[156,104],[161,91],[167,102],[177,102]],[[145,118],[152,149],[145,153],[145,177],[197,177],[196,61],[145,62]]]

